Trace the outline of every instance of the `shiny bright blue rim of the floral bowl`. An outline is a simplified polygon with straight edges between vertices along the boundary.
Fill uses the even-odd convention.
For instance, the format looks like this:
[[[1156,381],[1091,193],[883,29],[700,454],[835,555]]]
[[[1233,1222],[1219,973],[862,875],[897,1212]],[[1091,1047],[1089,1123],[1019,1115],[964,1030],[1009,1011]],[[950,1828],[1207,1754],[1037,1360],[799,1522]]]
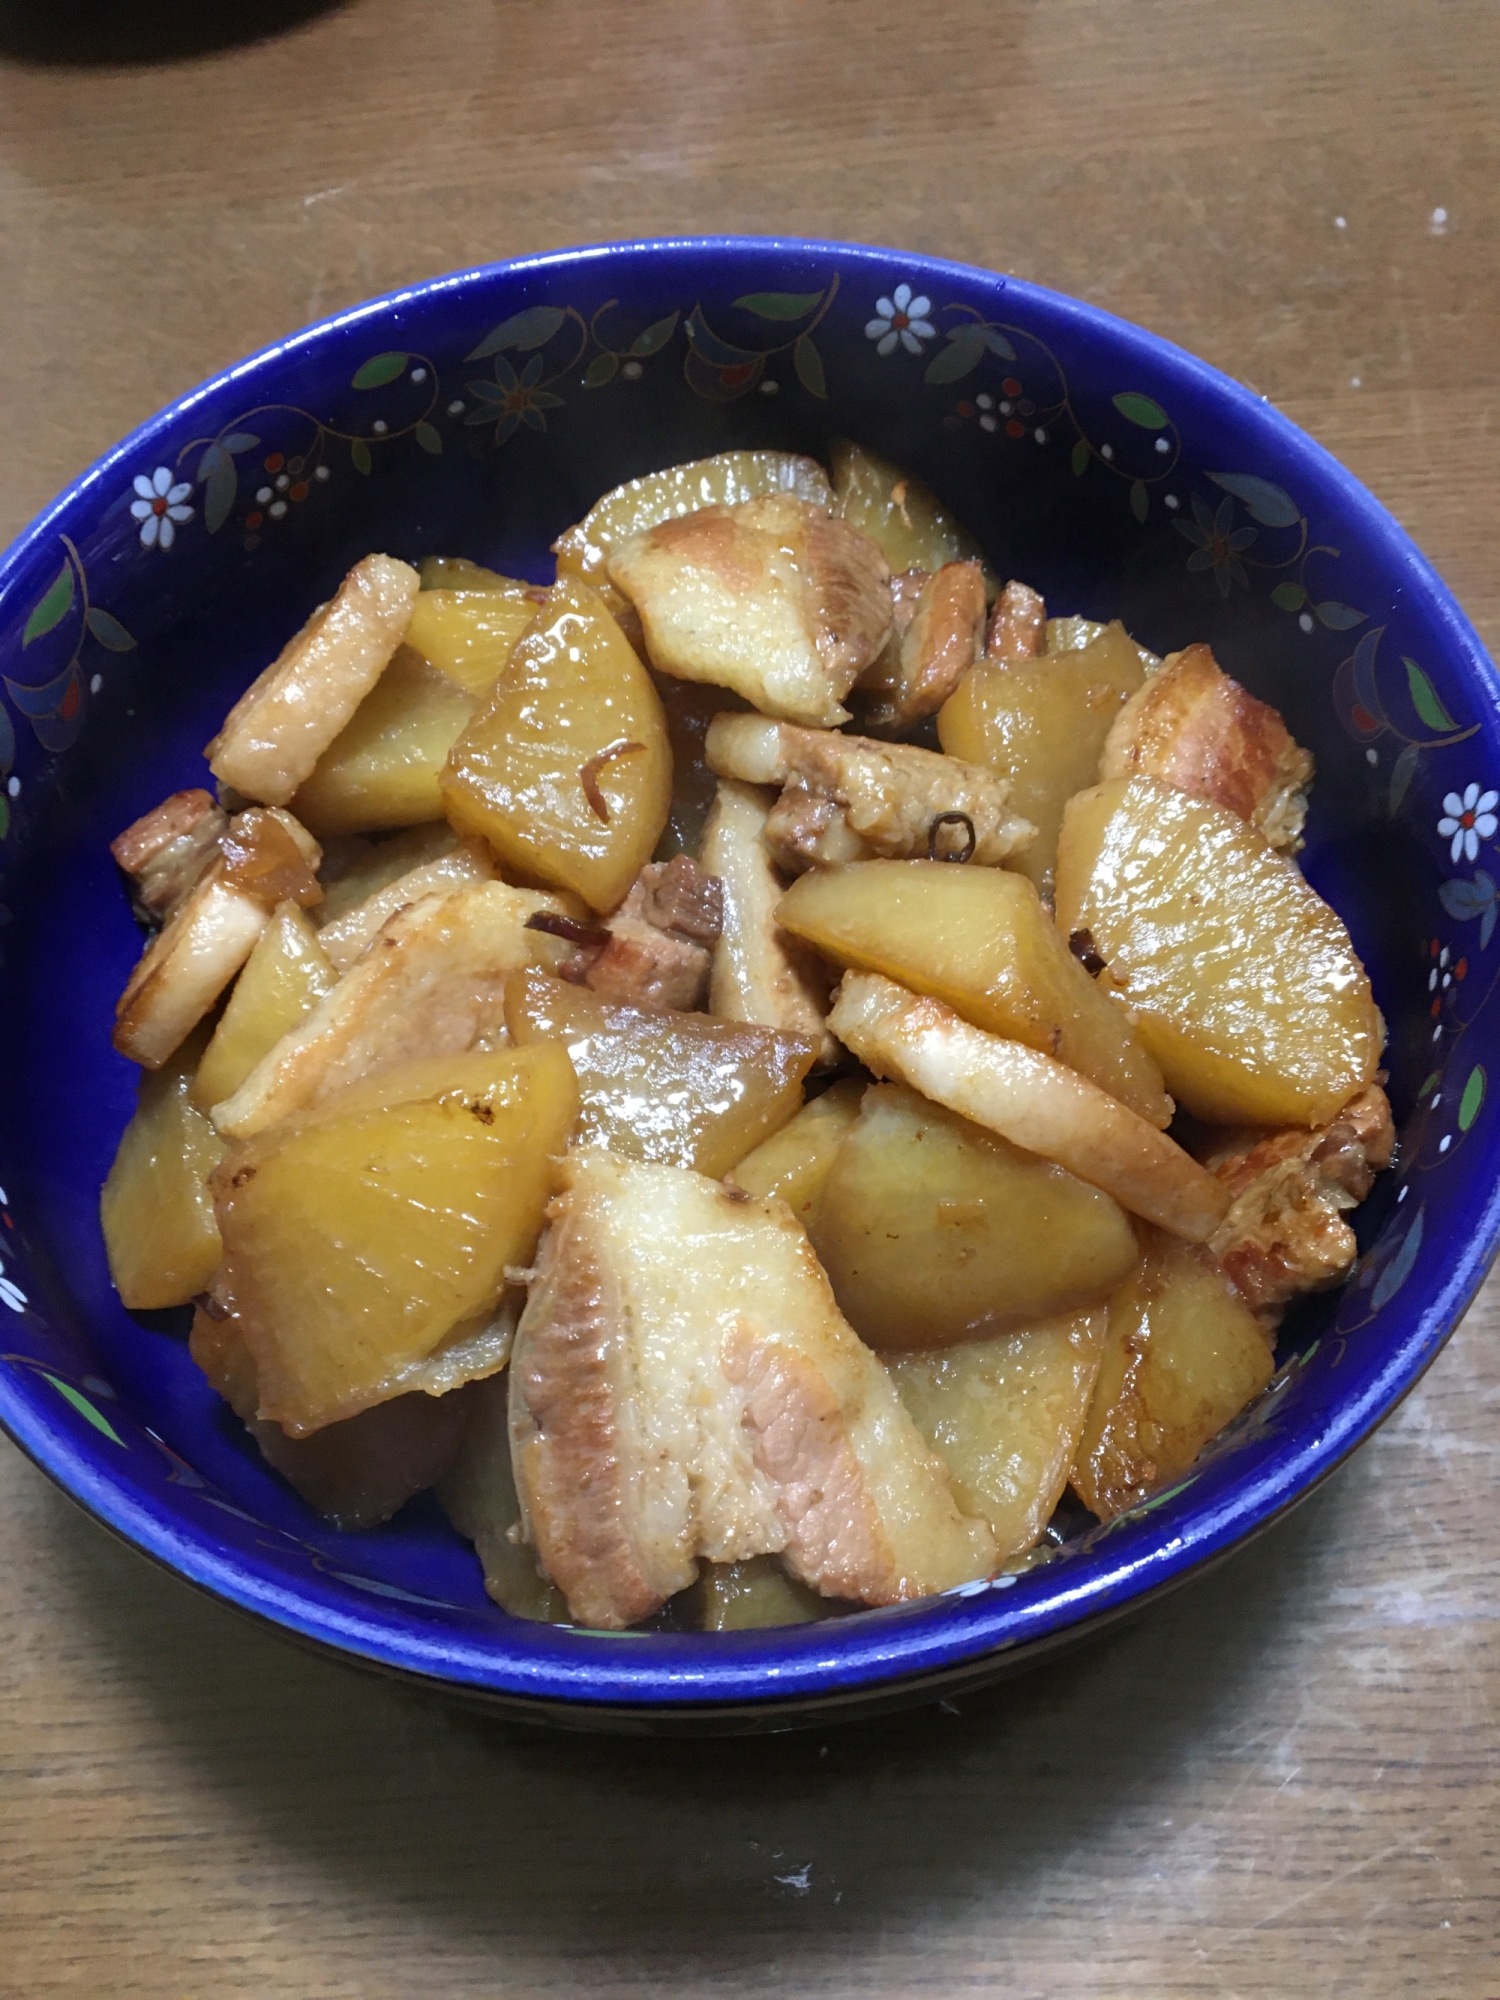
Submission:
[[[866,264],[872,274],[880,274],[882,286],[890,282],[892,266],[900,264],[904,278],[922,284],[950,280],[1030,300],[1054,322],[1070,322],[1086,338],[1168,370],[1204,396],[1228,400],[1242,420],[1258,426],[1268,456],[1292,456],[1316,468],[1340,508],[1358,524],[1360,536],[1380,552],[1394,588],[1420,596],[1456,670],[1488,694],[1492,708],[1500,708],[1500,676],[1452,590],[1380,500],[1266,396],[1160,334],[1070,294],[920,252],[796,236],[710,234],[580,244],[444,272],[314,320],[174,398],[70,480],[0,556],[0,604],[32,552],[60,522],[86,508],[96,488],[112,480],[122,464],[144,458],[158,438],[176,430],[194,408],[230,384],[312,350],[360,322],[408,306],[428,306],[472,286],[668,254],[730,260],[838,258],[842,266]],[[1428,1300],[1404,1318],[1400,1336],[1358,1398],[1330,1408],[1322,1428],[1272,1452],[1252,1482],[1232,1486],[1210,1504],[1188,1498],[1164,1506],[1150,1520],[1132,1522],[1128,1532],[1110,1538],[1104,1560],[1090,1560],[1082,1572],[1074,1566],[1056,1572],[1068,1574],[1066,1588],[1032,1604],[1010,1600],[1004,1584],[964,1586],[960,1592],[904,1606],[898,1618],[872,1612],[836,1624],[774,1628],[770,1636],[652,1634],[654,1644],[646,1648],[640,1642],[602,1646],[598,1636],[574,1628],[526,1626],[524,1644],[512,1648],[508,1626],[498,1642],[490,1634],[476,1644],[452,1638],[424,1644],[410,1632],[382,1624],[374,1610],[368,1616],[344,1614],[298,1596],[274,1578],[256,1576],[240,1558],[220,1556],[206,1536],[194,1538],[152,1514],[126,1480],[102,1472],[60,1422],[50,1422],[6,1370],[0,1370],[0,1428],[88,1514],[142,1554],[220,1602],[354,1664],[396,1672],[452,1694],[534,1710],[542,1718],[580,1704],[616,1718],[650,1712],[666,1720],[670,1710],[710,1716],[730,1708],[770,1718],[796,1706],[812,1710],[820,1700],[842,1702],[862,1692],[870,1698],[898,1696],[906,1682],[920,1684],[910,1698],[926,1698],[934,1676],[984,1664],[998,1670],[1012,1658],[1050,1650],[1062,1638],[1144,1604],[1244,1546],[1306,1498],[1416,1386],[1458,1326],[1498,1250],[1500,1178],[1490,1184],[1462,1254]],[[522,1622],[512,1624],[518,1628]],[[688,1652],[702,1650],[704,1642],[714,1648],[716,1656],[708,1666],[688,1664],[680,1644],[684,1638],[692,1638]],[[758,1644],[744,1644],[746,1640]],[[772,1650],[774,1662],[768,1658]]]

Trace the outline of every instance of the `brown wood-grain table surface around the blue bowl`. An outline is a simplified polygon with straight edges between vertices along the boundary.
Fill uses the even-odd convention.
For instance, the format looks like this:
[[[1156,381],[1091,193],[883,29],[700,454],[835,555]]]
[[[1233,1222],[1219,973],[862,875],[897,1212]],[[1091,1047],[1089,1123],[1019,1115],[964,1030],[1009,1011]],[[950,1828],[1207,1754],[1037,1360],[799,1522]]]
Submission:
[[[1204,354],[1500,642],[1494,0],[272,12],[308,18],[162,60],[224,8],[0,8],[4,536],[370,292],[782,230]],[[134,32],[156,60],[100,60]],[[532,1736],[306,1658],[0,1446],[0,1994],[1494,2000],[1498,1332],[1492,1288],[1318,1498],[1132,1628],[762,1744]]]

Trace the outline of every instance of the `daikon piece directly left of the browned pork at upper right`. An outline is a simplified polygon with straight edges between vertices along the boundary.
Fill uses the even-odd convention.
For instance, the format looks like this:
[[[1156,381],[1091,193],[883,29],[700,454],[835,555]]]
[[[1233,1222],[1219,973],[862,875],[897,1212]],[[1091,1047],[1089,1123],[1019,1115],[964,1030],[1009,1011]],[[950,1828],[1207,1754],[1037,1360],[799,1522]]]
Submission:
[[[948,756],[1010,780],[1012,808],[1036,828],[1016,866],[1040,890],[1056,868],[1062,808],[1098,778],[1104,738],[1144,680],[1140,648],[1112,624],[1078,652],[980,660],[938,712]]]

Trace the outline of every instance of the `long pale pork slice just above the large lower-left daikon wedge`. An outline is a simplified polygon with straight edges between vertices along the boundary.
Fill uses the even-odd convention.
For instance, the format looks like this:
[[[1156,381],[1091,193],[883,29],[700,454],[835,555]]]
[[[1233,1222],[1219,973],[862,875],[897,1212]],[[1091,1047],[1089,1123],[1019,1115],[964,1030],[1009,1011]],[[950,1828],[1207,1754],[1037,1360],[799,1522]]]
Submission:
[[[506,882],[468,882],[398,910],[338,986],[212,1110],[228,1138],[250,1138],[344,1084],[416,1056],[462,1054],[504,1034],[506,976],[552,966],[556,940],[528,930],[572,898]]]

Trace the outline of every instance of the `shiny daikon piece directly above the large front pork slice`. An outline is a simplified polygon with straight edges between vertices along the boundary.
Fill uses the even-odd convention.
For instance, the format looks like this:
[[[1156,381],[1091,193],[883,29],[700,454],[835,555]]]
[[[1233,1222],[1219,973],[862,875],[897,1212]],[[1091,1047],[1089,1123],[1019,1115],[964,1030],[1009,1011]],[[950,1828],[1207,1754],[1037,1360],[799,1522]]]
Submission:
[[[610,1006],[544,972],[512,974],[506,1026],[520,1048],[566,1044],[580,1144],[700,1174],[726,1174],[786,1124],[818,1046],[708,1014]]]

